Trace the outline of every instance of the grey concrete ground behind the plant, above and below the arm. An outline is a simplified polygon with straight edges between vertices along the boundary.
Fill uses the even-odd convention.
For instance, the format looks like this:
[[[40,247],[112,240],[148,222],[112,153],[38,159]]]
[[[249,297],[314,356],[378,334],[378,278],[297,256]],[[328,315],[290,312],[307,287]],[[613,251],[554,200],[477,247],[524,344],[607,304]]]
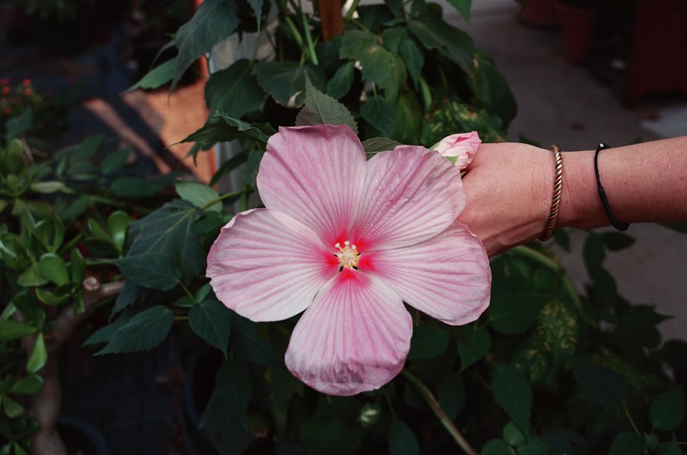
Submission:
[[[523,135],[544,147],[557,143],[563,150],[589,150],[600,141],[627,145],[687,135],[687,100],[650,96],[625,108],[609,84],[563,58],[557,30],[523,25],[515,0],[473,0],[469,24],[451,11],[444,8],[447,19],[473,36],[515,93],[518,113],[509,139]],[[581,260],[585,233],[571,234],[572,253],[558,253],[581,289],[587,281]],[[657,224],[633,224],[627,234],[635,237],[635,244],[610,253],[605,263],[618,281],[620,294],[675,316],[659,326],[662,334],[666,339],[687,340],[687,235]]]

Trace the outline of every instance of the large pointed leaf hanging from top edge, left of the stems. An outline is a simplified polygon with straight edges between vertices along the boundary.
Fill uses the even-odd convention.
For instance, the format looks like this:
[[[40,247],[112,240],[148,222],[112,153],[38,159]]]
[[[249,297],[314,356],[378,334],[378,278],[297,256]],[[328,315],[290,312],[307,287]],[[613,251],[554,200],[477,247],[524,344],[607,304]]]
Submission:
[[[181,25],[174,36],[179,49],[172,86],[174,91],[186,69],[212,47],[236,30],[239,23],[238,3],[225,0],[205,0],[187,23]]]

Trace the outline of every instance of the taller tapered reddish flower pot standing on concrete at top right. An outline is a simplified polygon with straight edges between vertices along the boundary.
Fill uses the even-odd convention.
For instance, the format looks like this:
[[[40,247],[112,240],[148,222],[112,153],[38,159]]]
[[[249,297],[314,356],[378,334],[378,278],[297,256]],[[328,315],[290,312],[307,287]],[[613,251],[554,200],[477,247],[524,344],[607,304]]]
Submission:
[[[567,5],[555,0],[556,18],[561,25],[563,56],[574,65],[584,65],[589,58],[596,22],[596,8]]]

